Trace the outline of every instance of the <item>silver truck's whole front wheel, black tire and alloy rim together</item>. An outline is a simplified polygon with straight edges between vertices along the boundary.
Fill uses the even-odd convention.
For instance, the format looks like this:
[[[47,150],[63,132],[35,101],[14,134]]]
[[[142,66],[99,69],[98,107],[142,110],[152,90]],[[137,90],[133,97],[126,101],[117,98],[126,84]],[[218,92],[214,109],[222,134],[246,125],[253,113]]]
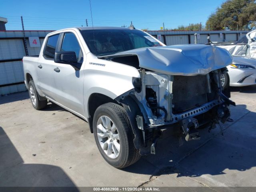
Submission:
[[[93,132],[100,154],[110,165],[124,168],[140,159],[128,115],[122,106],[115,103],[99,106],[93,118]]]

